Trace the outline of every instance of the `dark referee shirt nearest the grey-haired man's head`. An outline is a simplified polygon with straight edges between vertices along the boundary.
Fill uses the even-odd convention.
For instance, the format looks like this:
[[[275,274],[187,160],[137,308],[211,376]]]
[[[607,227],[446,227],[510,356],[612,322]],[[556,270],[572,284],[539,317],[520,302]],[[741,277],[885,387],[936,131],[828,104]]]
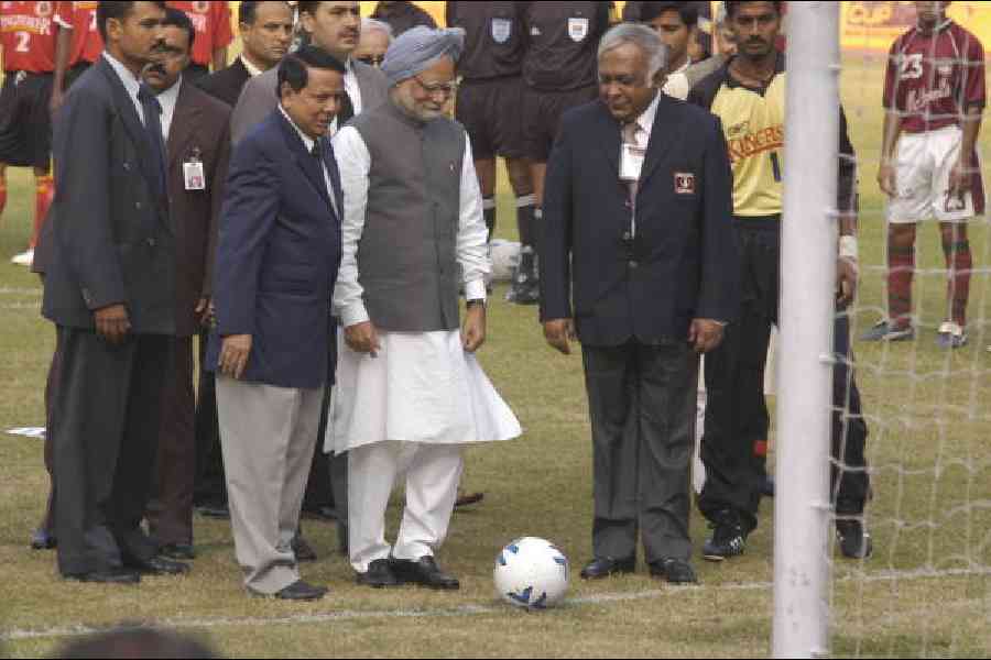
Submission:
[[[598,82],[599,38],[609,30],[612,2],[530,2],[524,13],[523,79],[544,91],[569,91]]]

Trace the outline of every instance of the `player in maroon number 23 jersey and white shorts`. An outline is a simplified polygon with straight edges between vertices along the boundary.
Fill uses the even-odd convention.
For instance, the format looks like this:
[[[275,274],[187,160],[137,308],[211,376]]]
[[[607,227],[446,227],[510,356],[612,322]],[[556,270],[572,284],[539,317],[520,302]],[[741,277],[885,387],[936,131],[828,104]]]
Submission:
[[[984,51],[946,15],[949,2],[916,2],[918,23],[891,47],[884,79],[884,142],[878,183],[889,196],[889,318],[863,339],[915,337],[912,277],[916,224],[939,221],[949,271],[947,315],[937,341],[967,343],[972,258],[967,220],[984,211],[974,145],[984,109]]]

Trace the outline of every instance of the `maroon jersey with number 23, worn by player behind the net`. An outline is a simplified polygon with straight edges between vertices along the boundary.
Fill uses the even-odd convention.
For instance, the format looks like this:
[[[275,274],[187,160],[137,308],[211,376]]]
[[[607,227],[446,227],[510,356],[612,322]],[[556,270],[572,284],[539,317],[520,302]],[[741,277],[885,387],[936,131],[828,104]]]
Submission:
[[[984,101],[984,48],[957,23],[932,33],[913,28],[892,45],[884,107],[902,116],[906,133],[959,125],[968,109]]]

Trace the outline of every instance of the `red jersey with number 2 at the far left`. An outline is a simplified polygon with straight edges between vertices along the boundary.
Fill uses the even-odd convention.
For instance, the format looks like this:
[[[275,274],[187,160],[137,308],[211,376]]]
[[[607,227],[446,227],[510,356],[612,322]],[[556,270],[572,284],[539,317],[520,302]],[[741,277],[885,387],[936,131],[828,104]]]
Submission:
[[[55,3],[0,2],[4,72],[55,70]]]

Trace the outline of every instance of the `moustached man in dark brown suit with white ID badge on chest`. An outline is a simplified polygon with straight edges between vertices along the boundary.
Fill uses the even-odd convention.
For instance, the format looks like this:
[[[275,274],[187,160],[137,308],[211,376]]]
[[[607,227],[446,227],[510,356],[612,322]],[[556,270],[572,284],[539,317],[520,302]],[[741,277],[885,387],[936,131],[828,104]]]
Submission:
[[[176,238],[175,370],[162,400],[162,432],[149,531],[162,554],[193,559],[196,442],[193,338],[209,316],[217,220],[230,158],[230,107],[183,77],[196,30],[168,8],[163,56],[144,74],[163,108],[168,197]]]

